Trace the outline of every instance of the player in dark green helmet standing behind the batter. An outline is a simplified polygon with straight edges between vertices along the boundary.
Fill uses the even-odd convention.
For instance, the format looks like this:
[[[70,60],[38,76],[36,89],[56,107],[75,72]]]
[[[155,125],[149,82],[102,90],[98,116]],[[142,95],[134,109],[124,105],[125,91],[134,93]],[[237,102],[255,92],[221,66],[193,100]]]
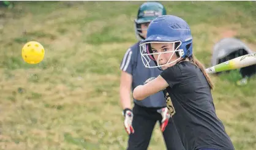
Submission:
[[[120,65],[120,102],[124,115],[124,127],[129,134],[127,150],[148,149],[157,122],[160,123],[166,149],[184,150],[174,124],[169,122],[170,114],[162,92],[149,96],[143,101],[133,99],[134,107],[130,102],[131,90],[137,85],[156,78],[161,72],[157,68],[148,69],[143,65],[139,47],[140,40],[146,38],[148,24],[160,15],[166,15],[166,10],[159,2],[141,4],[135,19],[135,33],[139,41],[128,48]]]

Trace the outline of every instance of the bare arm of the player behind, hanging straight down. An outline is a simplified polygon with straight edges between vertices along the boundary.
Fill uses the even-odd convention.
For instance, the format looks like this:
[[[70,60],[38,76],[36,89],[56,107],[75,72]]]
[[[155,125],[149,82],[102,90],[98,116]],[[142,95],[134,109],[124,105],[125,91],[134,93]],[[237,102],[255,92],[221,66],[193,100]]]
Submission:
[[[127,72],[121,72],[121,79],[120,79],[120,102],[122,105],[122,109],[131,108],[130,105],[130,92],[132,86],[132,75]]]

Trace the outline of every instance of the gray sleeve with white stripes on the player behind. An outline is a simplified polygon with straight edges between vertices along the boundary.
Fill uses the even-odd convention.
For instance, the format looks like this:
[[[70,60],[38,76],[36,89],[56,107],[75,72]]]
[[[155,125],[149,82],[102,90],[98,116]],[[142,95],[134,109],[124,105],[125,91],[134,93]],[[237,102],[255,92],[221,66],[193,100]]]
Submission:
[[[132,49],[129,48],[124,54],[124,57],[122,58],[120,69],[124,72],[132,74],[133,64],[134,64],[133,61],[134,59],[132,58]]]

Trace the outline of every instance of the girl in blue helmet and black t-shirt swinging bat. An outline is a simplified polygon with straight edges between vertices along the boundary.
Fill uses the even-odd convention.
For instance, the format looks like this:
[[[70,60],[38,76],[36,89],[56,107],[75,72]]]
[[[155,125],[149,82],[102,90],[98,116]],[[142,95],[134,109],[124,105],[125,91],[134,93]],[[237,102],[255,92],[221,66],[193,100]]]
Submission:
[[[192,35],[186,21],[173,15],[157,17],[149,24],[146,37],[140,43],[143,64],[164,71],[149,83],[137,86],[134,98],[143,100],[164,91],[185,149],[235,149],[216,116],[211,95],[213,83],[203,65],[194,58]],[[156,66],[151,66],[150,61]]]

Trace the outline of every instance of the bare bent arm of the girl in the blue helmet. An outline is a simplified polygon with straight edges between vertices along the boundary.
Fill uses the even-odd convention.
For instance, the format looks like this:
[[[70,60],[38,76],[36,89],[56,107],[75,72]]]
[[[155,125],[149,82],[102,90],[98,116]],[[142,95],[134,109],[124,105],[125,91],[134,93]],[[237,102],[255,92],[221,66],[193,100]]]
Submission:
[[[169,85],[160,75],[149,83],[139,85],[134,89],[133,96],[136,100],[143,100],[148,96],[164,90]]]

